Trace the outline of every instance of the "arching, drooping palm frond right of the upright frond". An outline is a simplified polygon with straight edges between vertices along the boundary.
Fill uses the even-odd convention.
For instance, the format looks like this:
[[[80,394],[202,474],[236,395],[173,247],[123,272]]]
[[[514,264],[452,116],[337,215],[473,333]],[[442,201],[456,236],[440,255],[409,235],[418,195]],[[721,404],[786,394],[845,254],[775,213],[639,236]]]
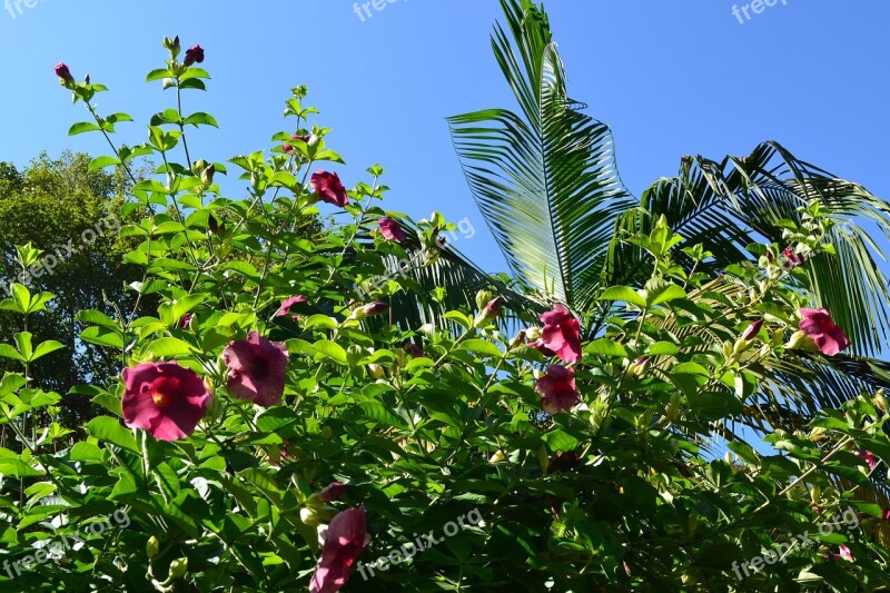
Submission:
[[[751,243],[781,244],[780,221],[800,223],[798,208],[813,198],[835,223],[828,240],[838,256],[808,265],[807,288],[848,332],[856,353],[874,355],[890,332],[890,288],[878,263],[882,250],[862,225],[884,241],[890,238],[890,204],[862,186],[799,160],[778,142],[764,142],[746,158],[726,157],[720,164],[684,157],[676,177],[660,179],[643,195],[647,215],[624,224],[646,230],[664,215],[684,245],[703,244],[716,268],[725,269],[748,258],[744,248]],[[613,261],[625,259],[622,269],[633,269],[627,266],[632,257],[629,248],[613,245]]]

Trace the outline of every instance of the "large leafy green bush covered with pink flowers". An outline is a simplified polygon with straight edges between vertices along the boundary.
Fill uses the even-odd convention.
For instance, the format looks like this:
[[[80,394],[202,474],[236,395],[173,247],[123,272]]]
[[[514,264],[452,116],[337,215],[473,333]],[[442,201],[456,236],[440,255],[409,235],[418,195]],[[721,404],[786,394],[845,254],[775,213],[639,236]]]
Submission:
[[[195,65],[212,55],[195,46],[180,62],[179,40],[165,47],[169,60],[147,81],[188,105],[186,91],[209,79]],[[111,138],[130,120],[96,111],[103,86],[56,71],[93,116],[71,134]],[[344,172],[347,189],[325,168],[342,159],[307,119],[316,110],[305,98],[294,89],[293,127],[268,152],[192,161],[187,126],[216,121],[178,107],[151,119],[146,144],[93,160],[162,164],[132,188],[130,211],[148,215],[121,230],[135,240],[127,260],[144,269],[131,289],[160,305],[144,316],[81,312],[81,339],[121,367],[108,388],[97,377],[76,389],[107,411],[86,434],[53,422],[62,396],[28,375],[57,347],[31,344],[27,330],[52,295],[16,285],[0,304],[22,322],[0,346],[22,366],[0,383],[0,423],[17,435],[0,448],[0,582],[312,592],[887,582],[890,556],[874,532],[886,511],[863,494],[890,462],[881,394],[771,431],[771,447],[709,441],[756,417],[763,365],[790,349],[831,356],[849,345],[828,312],[808,308],[813,297],[795,281],[803,257],[783,267],[765,254],[788,246],[752,246],[763,256],[734,277],[688,275],[662,219],[629,238],[654,263],[651,279],[604,287],[592,310],[554,303],[541,313],[482,293],[475,310],[393,323],[394,297],[419,300],[418,283],[368,283],[394,256],[435,265],[446,227],[385,211],[380,167],[364,181]],[[228,166],[241,171],[246,198],[221,194],[214,176]],[[338,221],[308,241],[298,220],[318,211]],[[819,202],[801,216],[787,234],[792,253],[831,257]],[[36,257],[22,251],[22,267]],[[516,320],[532,312],[540,324]],[[764,425],[769,413],[760,409]],[[89,531],[120,507],[126,527]],[[861,517],[856,528],[810,531],[811,546],[772,552],[848,508]],[[448,533],[473,512],[479,521]],[[34,570],[48,541],[70,535],[80,545]]]

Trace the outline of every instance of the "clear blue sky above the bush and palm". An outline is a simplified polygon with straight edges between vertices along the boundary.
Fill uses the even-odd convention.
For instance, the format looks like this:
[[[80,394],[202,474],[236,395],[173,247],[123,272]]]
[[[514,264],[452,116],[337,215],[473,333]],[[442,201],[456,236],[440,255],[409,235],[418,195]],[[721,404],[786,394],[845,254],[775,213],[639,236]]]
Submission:
[[[347,0],[28,1],[34,6],[13,7],[14,18],[0,6],[0,160],[22,165],[44,149],[106,152],[98,137],[68,138],[70,123],[87,118],[58,87],[58,61],[109,86],[100,111],[129,111],[136,123],[119,126],[119,138],[142,141],[150,113],[174,98],[142,80],[162,66],[162,37],[178,33],[185,47],[206,49],[214,77],[211,92],[190,93],[186,109],[220,123],[191,142],[194,158],[268,147],[284,128],[288,89],[306,83],[320,122],[334,128],[328,140],[347,160],[348,185],[379,161],[393,188],[388,208],[415,219],[433,209],[468,217],[477,234],[458,247],[503,269],[444,121],[513,107],[488,41],[495,0],[396,0],[370,7],[364,22]],[[749,8],[751,20],[734,17],[733,4],[743,14],[746,3],[545,3],[570,93],[612,126],[631,190],[674,175],[684,154],[719,159],[775,139],[890,198],[890,2],[777,0],[759,14]]]

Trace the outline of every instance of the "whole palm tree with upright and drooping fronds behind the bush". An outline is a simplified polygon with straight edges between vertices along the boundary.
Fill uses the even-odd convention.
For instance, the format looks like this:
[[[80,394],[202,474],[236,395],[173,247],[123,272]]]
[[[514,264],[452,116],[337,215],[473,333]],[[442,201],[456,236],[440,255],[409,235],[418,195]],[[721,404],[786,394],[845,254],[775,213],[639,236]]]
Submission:
[[[641,250],[623,240],[627,233],[647,231],[663,215],[684,238],[674,247],[681,265],[692,265],[682,249],[702,244],[713,254],[709,271],[726,274],[749,259],[746,246],[781,241],[785,221],[799,223],[798,208],[819,198],[838,223],[828,237],[837,257],[811,260],[803,288],[847,330],[853,354],[798,354],[760,369],[760,399],[770,409],[752,407],[742,419],[794,426],[818,408],[890,387],[890,365],[869,358],[890,329],[890,289],[866,230],[890,237],[890,204],[777,142],[720,162],[684,157],[678,176],[634,198],[617,174],[609,127],[568,98],[543,7],[501,4],[507,30],[495,26],[492,47],[520,110],[486,109],[452,117],[449,125],[473,196],[521,285],[592,313],[595,333],[596,320],[614,313],[597,309],[597,295],[614,285],[642,285],[652,271]]]

